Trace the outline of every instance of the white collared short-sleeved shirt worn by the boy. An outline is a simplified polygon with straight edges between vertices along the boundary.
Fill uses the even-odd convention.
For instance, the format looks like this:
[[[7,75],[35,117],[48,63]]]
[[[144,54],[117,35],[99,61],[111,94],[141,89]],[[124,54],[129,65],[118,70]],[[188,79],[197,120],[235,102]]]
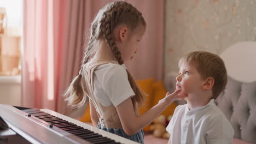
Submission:
[[[166,130],[170,142],[176,143],[232,143],[234,129],[214,104],[214,99],[201,107],[189,110],[188,104],[176,107]]]

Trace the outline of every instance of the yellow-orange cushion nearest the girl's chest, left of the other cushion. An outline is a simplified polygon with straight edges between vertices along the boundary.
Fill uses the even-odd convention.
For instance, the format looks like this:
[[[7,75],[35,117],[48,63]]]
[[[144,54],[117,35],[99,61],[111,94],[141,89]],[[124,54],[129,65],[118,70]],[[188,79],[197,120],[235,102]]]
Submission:
[[[143,92],[148,94],[148,97],[144,100],[144,103],[139,106],[138,111],[139,114],[147,112],[152,106],[152,92],[153,92],[153,83],[154,78],[137,80],[138,86],[142,89]],[[143,130],[149,131],[149,125],[145,127]]]

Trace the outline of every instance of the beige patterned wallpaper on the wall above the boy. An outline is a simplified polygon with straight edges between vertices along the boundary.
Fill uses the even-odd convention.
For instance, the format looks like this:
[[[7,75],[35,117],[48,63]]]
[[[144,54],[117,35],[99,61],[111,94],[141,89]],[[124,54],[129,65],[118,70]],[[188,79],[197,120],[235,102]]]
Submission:
[[[165,9],[164,75],[185,53],[256,41],[256,0],[166,0]]]

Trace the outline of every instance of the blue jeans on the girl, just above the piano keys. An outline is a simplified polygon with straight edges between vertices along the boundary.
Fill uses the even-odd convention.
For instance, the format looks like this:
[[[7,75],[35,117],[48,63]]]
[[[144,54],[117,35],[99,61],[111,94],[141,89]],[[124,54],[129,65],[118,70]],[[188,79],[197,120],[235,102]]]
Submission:
[[[97,127],[98,127],[99,129],[108,131],[109,133],[113,133],[113,134],[116,134],[116,135],[125,137],[126,139],[129,139],[129,140],[136,141],[136,142],[139,142],[139,143],[144,144],[144,133],[143,133],[143,129],[142,129],[142,130],[139,130],[138,133],[136,133],[136,134],[134,134],[134,135],[127,135],[127,134],[124,132],[123,128],[118,128],[118,129],[115,129],[115,128],[102,128],[100,122],[98,123]]]

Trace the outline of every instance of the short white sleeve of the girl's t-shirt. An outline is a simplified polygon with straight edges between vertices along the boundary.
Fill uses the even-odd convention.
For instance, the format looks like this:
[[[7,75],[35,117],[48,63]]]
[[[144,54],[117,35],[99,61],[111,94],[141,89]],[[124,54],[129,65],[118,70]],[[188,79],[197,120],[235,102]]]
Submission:
[[[125,68],[118,64],[113,64],[113,67],[106,71],[102,87],[115,107],[135,95]]]

